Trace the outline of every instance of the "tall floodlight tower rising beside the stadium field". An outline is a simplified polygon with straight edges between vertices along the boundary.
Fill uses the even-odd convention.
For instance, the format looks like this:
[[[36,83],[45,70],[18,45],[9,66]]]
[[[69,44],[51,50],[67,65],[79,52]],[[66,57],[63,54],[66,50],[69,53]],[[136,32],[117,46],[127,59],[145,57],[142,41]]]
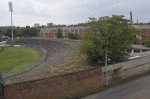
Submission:
[[[12,18],[12,12],[13,12],[13,5],[12,2],[8,2],[9,5],[9,11],[11,13],[11,44],[14,46],[14,34],[13,34],[13,18]]]

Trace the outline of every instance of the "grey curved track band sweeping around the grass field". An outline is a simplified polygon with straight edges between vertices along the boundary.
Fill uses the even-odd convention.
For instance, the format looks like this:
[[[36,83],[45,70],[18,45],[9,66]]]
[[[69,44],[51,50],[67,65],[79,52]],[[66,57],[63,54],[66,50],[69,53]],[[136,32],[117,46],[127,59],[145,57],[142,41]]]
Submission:
[[[19,39],[15,42],[15,44],[32,44],[40,46],[47,50],[47,58],[42,64],[35,68],[32,68],[27,72],[9,78],[5,78],[6,84],[48,77],[50,76],[48,73],[48,69],[51,66],[62,63],[67,56],[72,54],[73,51],[72,47],[69,44],[60,40]]]

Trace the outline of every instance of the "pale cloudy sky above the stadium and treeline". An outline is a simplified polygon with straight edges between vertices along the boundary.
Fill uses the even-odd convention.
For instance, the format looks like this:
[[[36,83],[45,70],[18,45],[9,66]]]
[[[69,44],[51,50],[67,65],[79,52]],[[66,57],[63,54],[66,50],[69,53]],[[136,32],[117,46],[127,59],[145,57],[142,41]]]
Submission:
[[[0,0],[0,26],[10,25],[8,2]],[[33,26],[85,23],[89,17],[124,15],[133,21],[150,22],[150,0],[12,0],[13,25]]]

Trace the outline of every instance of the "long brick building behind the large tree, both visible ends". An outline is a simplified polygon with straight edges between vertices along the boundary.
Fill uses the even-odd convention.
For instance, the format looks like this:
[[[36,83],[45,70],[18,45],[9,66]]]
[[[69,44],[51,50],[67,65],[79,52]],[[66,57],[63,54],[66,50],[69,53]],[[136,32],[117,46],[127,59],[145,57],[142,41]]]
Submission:
[[[141,31],[141,35],[134,35],[133,44],[141,45],[144,44],[144,40],[150,37],[150,24],[133,24],[133,27]],[[71,25],[71,26],[51,26],[43,27],[40,30],[40,37],[43,38],[57,38],[58,30],[62,31],[64,38],[67,38],[68,33],[77,33],[78,39],[83,39],[87,26],[85,25]]]

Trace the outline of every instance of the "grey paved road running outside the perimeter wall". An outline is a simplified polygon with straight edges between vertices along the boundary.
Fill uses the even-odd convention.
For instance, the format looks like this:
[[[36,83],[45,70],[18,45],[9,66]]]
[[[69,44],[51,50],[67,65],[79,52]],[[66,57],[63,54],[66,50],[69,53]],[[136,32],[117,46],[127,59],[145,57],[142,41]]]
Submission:
[[[150,99],[150,76],[81,99]]]

